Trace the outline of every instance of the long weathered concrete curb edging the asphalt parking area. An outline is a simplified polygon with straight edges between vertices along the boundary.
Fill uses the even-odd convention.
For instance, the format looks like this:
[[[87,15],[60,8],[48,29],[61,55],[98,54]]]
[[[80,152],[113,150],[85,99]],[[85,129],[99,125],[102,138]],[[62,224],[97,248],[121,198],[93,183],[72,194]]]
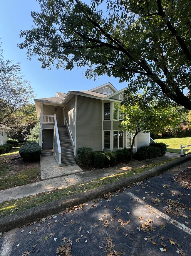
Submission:
[[[167,169],[175,167],[178,164],[187,162],[191,159],[191,155],[175,159],[166,164],[154,167],[145,172],[138,173],[131,177],[112,182],[102,187],[97,187],[86,192],[82,192],[76,195],[71,195],[67,198],[56,200],[54,202],[46,203],[42,206],[35,206],[31,209],[14,213],[0,218],[0,231],[8,231],[10,229],[16,228],[26,224],[27,221],[35,221],[37,218],[43,218],[44,216],[50,215],[52,213],[57,213],[63,211],[68,207],[79,205],[85,203],[89,200],[101,197],[104,193],[113,192],[121,187],[127,187],[133,182],[138,182],[140,180],[145,180],[149,177],[159,175]]]

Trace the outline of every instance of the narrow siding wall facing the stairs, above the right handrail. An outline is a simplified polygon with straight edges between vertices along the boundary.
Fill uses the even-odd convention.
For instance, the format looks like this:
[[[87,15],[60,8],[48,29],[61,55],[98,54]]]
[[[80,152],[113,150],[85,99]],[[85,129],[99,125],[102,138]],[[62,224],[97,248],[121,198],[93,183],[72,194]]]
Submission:
[[[71,98],[66,104],[66,120],[72,134],[73,141],[75,140],[75,104],[76,96]]]

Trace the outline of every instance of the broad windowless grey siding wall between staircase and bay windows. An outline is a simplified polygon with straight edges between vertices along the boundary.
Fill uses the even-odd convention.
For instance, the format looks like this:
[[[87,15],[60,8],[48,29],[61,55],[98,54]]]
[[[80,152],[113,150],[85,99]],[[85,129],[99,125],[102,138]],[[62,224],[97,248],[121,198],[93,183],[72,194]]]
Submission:
[[[101,100],[77,95],[76,110],[76,153],[79,147],[102,150]]]

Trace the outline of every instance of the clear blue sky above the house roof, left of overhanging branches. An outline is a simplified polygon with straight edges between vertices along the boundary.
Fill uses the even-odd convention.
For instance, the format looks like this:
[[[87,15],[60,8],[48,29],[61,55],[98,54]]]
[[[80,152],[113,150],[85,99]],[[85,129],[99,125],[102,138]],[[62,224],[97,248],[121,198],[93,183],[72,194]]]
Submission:
[[[17,46],[23,39],[19,38],[20,30],[29,30],[33,25],[31,11],[40,11],[36,0],[6,0],[1,1],[0,9],[0,38],[4,59],[20,62],[22,73],[25,79],[31,82],[36,98],[53,97],[58,92],[69,90],[89,90],[101,84],[110,82],[120,90],[127,87],[127,83],[119,83],[119,79],[108,76],[101,76],[96,81],[88,80],[83,76],[84,69],[63,69],[52,70],[42,69],[37,57],[29,61],[26,57],[26,50]]]

